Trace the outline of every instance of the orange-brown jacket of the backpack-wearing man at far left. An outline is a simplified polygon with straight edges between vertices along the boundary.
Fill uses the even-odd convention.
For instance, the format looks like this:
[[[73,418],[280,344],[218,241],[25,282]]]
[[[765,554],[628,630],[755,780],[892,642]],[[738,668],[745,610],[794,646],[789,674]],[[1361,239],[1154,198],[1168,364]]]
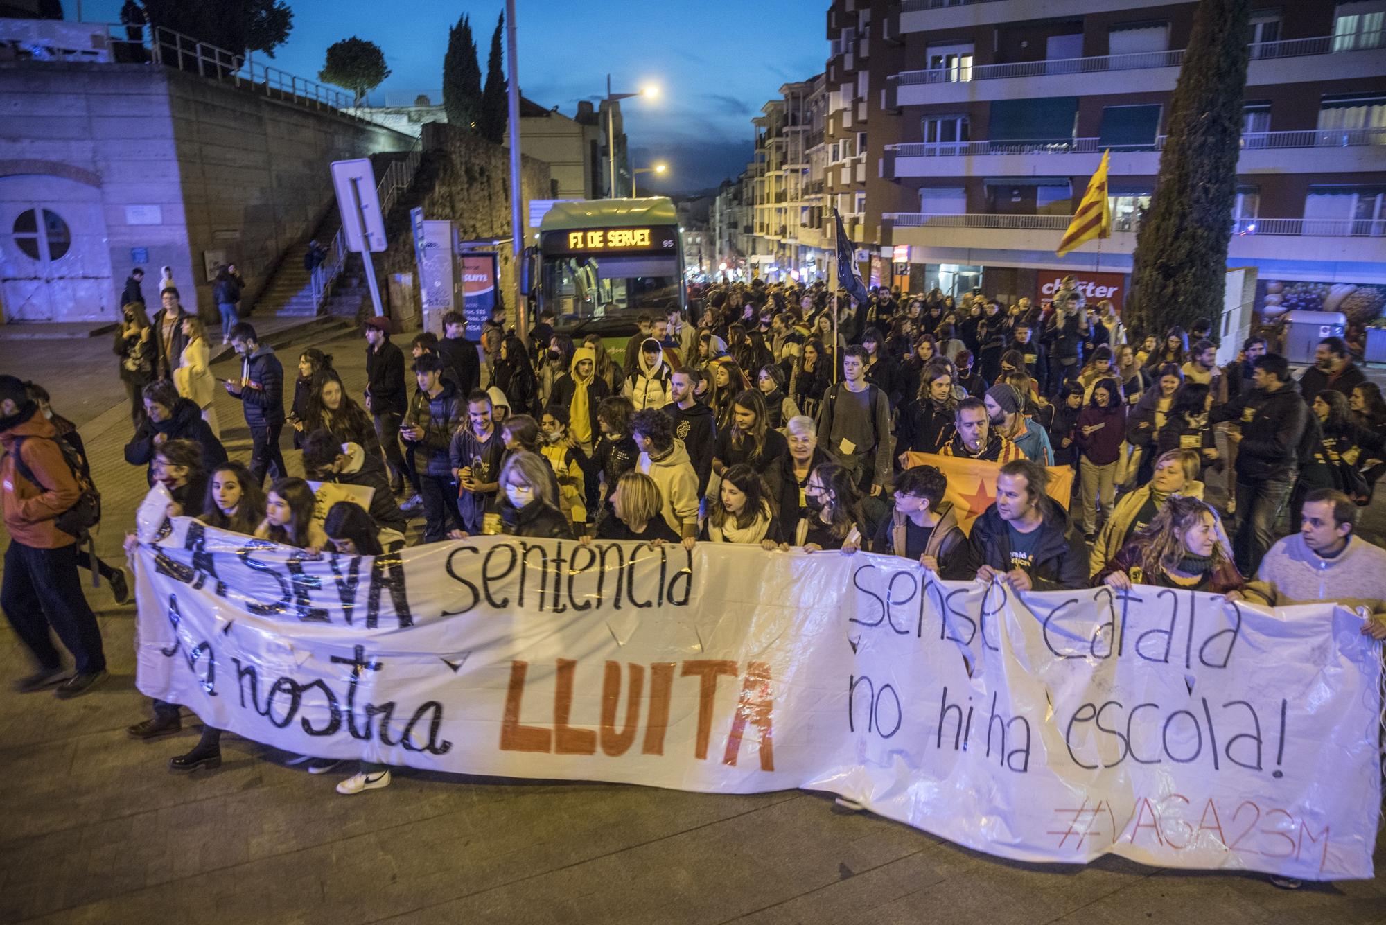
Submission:
[[[15,465],[18,438],[25,438],[19,454],[39,481],[37,485],[19,475],[19,467]],[[40,550],[76,543],[76,537],[53,523],[82,494],[57,439],[57,428],[39,414],[39,406],[33,402],[25,402],[14,417],[0,420],[0,446],[4,447],[4,457],[0,457],[4,525],[15,543]]]

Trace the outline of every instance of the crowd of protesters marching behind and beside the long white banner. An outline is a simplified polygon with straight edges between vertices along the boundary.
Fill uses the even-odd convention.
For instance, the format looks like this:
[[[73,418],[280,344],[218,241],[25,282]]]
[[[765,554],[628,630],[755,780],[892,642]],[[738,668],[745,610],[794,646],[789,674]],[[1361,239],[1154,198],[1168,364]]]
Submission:
[[[481,343],[449,313],[444,336],[414,336],[406,359],[389,321],[370,318],[359,395],[317,349],[301,353],[290,389],[274,350],[227,317],[241,371],[223,385],[252,439],[241,462],[211,408],[207,331],[169,287],[152,318],[126,305],[116,332],[134,425],[125,457],[169,492],[170,515],[316,553],[481,533],[865,550],[1019,591],[1337,600],[1386,637],[1386,551],[1356,536],[1386,471],[1386,402],[1342,339],[1324,339],[1296,382],[1256,336],[1224,367],[1207,325],[1128,343],[1113,306],[1088,305],[1071,278],[1044,306],[886,288],[858,305],[821,284],[701,295],[696,324],[639,316],[621,357],[597,335],[557,332],[552,316],[527,343],[498,312]],[[286,424],[308,478],[369,487],[369,505],[341,501],[315,521],[312,487],[284,464]],[[3,605],[37,662],[19,688],[75,697],[105,677],[76,577],[82,530],[61,519],[91,489],[82,442],[42,388],[12,377],[0,377],[0,442]],[[930,456],[999,464],[970,535]],[[1056,500],[1064,467],[1074,487]],[[1218,507],[1210,472],[1227,485]],[[128,595],[123,573],[93,568]],[[177,705],[157,702],[129,731],[180,723]],[[219,763],[208,728],[170,766]],[[388,782],[388,769],[363,766],[338,789]]]

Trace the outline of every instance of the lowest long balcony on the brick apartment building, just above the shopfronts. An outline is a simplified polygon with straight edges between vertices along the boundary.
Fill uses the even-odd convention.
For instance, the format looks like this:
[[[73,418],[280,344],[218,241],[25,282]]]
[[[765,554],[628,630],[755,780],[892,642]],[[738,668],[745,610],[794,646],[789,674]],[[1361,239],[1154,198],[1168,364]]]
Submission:
[[[1130,271],[1135,224],[1110,238],[1089,241],[1067,258],[1055,258],[1071,216],[1067,215],[930,215],[891,212],[881,216],[888,244],[920,248],[929,263],[1023,262],[1037,266],[1089,266]],[[1228,259],[1267,271],[1296,266],[1379,264],[1386,246],[1386,219],[1238,219]],[[1318,271],[1318,270],[1315,270]],[[1317,278],[1317,277],[1314,277]]]

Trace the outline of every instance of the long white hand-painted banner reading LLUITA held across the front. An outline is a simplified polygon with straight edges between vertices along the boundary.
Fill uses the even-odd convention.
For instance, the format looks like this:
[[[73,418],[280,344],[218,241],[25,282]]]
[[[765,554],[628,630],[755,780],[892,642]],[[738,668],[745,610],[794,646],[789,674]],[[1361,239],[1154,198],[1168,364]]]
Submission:
[[[136,572],[139,688],[297,753],[800,787],[1017,860],[1372,877],[1379,647],[1329,604],[1021,600],[707,543],[313,561],[187,518]]]

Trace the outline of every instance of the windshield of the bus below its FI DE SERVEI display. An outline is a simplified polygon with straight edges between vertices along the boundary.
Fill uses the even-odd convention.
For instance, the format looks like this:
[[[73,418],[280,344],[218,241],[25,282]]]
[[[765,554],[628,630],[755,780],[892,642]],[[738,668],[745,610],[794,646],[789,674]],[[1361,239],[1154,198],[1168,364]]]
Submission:
[[[543,258],[545,307],[560,320],[610,318],[679,307],[674,253],[570,253]]]

